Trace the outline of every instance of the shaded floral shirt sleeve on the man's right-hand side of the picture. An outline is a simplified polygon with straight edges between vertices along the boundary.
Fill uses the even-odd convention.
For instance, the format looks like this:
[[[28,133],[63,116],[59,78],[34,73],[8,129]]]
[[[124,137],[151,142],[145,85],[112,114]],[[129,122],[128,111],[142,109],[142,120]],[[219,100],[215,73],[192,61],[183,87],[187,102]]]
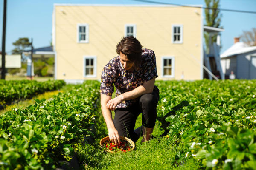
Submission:
[[[158,77],[157,75],[157,62],[156,62],[156,56],[154,54],[154,51],[151,51],[151,53],[148,54],[148,57],[145,58],[145,71],[144,71],[144,77],[143,82],[147,82],[151,79],[155,79]]]

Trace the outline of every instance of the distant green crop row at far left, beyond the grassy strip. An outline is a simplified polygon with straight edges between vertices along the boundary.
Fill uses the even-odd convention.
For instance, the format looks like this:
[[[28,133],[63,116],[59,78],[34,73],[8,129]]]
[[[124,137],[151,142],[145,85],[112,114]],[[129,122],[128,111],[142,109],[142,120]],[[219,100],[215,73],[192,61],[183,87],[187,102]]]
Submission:
[[[46,91],[53,91],[65,85],[63,80],[0,80],[0,105],[11,104],[20,99],[29,99]]]

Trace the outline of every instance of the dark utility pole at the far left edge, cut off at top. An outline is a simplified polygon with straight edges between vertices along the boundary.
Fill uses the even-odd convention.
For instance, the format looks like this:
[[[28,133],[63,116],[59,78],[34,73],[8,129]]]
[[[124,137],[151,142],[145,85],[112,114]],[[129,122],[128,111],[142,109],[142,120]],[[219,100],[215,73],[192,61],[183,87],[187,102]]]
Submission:
[[[1,79],[5,79],[5,37],[6,37],[6,2],[3,1],[3,38],[2,38],[2,72]]]

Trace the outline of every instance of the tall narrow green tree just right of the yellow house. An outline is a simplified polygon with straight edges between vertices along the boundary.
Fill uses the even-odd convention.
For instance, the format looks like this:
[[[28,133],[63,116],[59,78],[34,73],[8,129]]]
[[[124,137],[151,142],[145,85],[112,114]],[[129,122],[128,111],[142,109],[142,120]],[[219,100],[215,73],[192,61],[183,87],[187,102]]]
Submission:
[[[220,0],[204,0],[204,2],[206,5],[206,8],[204,10],[206,26],[221,28],[220,24],[222,15],[220,14],[220,10],[218,10],[218,8],[220,7]],[[209,34],[207,32],[204,32],[204,40],[207,51],[209,51]],[[212,36],[211,42],[216,42],[216,40],[217,35]]]

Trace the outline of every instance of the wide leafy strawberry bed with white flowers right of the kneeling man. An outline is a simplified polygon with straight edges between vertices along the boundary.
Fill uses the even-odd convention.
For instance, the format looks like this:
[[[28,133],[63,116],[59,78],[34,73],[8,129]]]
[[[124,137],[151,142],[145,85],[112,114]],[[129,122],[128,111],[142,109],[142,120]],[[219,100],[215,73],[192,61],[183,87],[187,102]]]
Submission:
[[[202,168],[255,169],[256,82],[157,82],[158,120]]]

